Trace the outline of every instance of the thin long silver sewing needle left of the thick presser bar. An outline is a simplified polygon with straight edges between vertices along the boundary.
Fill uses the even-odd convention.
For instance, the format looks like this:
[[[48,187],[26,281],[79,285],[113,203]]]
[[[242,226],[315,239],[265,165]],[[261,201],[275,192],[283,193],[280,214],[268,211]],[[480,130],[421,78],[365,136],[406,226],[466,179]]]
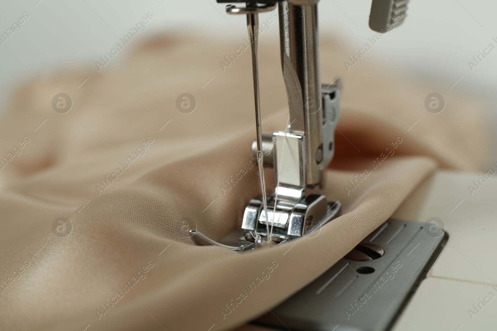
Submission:
[[[247,3],[249,4],[249,3]],[[255,4],[256,5],[256,4]],[[262,154],[262,124],[260,120],[260,98],[259,98],[259,72],[257,68],[257,28],[259,26],[259,17],[257,12],[247,13],[247,27],[248,36],[251,41],[252,50],[252,75],[253,75],[253,94],[255,102],[255,127],[257,133],[257,164],[259,168],[259,178],[260,178],[260,190],[262,195],[262,203],[264,205],[264,215],[266,220],[266,230],[267,230],[267,241],[271,241],[269,238],[269,220],[267,219],[267,196],[266,196],[266,182],[264,179],[264,161]]]

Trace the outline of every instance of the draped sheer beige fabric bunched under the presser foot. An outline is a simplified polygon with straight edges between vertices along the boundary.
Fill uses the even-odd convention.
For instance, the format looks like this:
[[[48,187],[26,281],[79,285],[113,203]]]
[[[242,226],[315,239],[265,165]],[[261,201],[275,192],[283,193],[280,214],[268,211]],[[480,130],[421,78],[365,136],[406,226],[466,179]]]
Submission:
[[[333,265],[437,163],[485,168],[485,154],[466,135],[486,148],[481,108],[438,90],[447,106],[430,114],[423,107],[429,87],[418,82],[418,89],[402,72],[390,76],[367,59],[347,72],[346,52],[323,38],[323,80],[339,74],[345,89],[336,157],[320,192],[340,200],[342,216],[315,238],[248,254],[192,245],[188,226],[219,239],[240,224],[245,205],[258,194],[256,169],[248,166],[254,137],[249,51],[225,71],[219,65],[243,42],[209,48],[200,40],[157,38],[101,72],[45,76],[48,88],[35,80],[13,96],[0,124],[1,155],[25,136],[29,143],[0,170],[0,281],[9,284],[0,293],[1,330],[236,328]],[[260,45],[265,131],[284,128],[287,116],[276,45]],[[60,92],[74,101],[67,114],[51,108]],[[198,101],[191,114],[175,108],[184,92]],[[119,162],[148,137],[153,142],[146,153],[99,196],[95,186],[122,169]],[[347,195],[349,180],[397,137],[402,143],[395,155]],[[248,173],[226,191],[226,181],[242,169]],[[266,178],[274,187],[271,170]],[[53,234],[58,217],[72,221],[70,236]],[[196,225],[185,224],[188,218]],[[249,293],[245,286],[268,267],[269,278]],[[145,278],[134,283],[137,274]],[[120,286],[128,281],[133,286],[125,292]],[[116,292],[122,298],[113,299]],[[242,292],[247,298],[223,318],[221,311]],[[99,316],[103,304],[108,312]]]

